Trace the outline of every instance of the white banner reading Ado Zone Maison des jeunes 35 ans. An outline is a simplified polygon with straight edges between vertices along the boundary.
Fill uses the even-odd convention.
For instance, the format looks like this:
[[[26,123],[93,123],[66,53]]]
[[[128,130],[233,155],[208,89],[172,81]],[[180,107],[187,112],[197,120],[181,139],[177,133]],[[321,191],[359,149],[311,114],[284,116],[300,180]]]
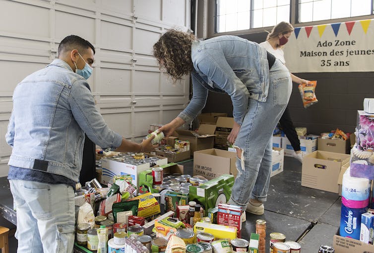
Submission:
[[[284,56],[291,73],[373,72],[374,21],[295,27]]]

